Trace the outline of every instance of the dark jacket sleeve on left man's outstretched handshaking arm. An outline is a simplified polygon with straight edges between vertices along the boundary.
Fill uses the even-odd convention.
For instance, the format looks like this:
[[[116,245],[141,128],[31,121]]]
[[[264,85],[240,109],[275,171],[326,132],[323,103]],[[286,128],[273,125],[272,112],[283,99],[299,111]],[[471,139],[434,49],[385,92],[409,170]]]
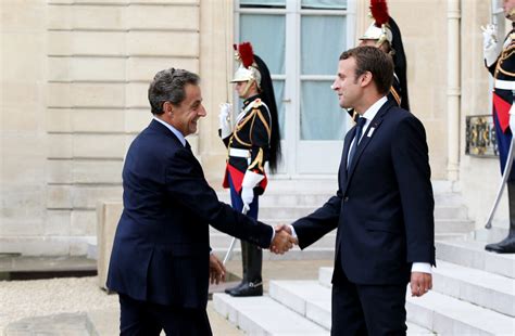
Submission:
[[[166,189],[173,202],[190,209],[217,230],[267,248],[273,228],[234,210],[216,197],[205,181],[202,168],[188,151],[177,151],[166,168]]]

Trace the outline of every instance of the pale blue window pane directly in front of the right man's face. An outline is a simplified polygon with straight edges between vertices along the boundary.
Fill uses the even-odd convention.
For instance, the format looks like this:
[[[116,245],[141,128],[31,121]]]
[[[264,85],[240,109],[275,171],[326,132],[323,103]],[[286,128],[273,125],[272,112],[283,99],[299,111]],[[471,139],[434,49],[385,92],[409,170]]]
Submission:
[[[330,81],[302,81],[301,140],[343,140],[347,112],[338,104]]]

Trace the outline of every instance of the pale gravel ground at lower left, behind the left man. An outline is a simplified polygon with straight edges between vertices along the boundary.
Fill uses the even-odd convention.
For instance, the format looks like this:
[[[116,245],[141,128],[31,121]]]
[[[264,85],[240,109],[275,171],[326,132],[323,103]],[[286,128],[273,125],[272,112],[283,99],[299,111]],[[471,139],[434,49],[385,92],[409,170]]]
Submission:
[[[0,331],[29,316],[117,309],[118,297],[106,295],[97,276],[0,282]]]

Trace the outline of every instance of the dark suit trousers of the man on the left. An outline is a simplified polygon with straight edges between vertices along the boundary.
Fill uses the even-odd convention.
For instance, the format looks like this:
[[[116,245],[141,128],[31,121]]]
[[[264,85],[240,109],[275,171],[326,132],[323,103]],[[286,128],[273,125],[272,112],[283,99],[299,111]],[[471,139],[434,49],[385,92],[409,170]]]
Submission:
[[[210,336],[205,309],[187,309],[135,300],[120,294],[120,335]]]

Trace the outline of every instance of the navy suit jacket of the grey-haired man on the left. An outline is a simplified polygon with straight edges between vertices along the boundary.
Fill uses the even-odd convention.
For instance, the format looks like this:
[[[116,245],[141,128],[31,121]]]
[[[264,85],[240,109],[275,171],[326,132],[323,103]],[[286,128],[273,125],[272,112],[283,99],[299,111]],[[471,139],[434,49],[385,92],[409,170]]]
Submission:
[[[189,145],[155,120],[128,150],[123,186],[108,288],[134,299],[205,308],[209,224],[261,247],[271,244],[271,227],[218,202]]]

